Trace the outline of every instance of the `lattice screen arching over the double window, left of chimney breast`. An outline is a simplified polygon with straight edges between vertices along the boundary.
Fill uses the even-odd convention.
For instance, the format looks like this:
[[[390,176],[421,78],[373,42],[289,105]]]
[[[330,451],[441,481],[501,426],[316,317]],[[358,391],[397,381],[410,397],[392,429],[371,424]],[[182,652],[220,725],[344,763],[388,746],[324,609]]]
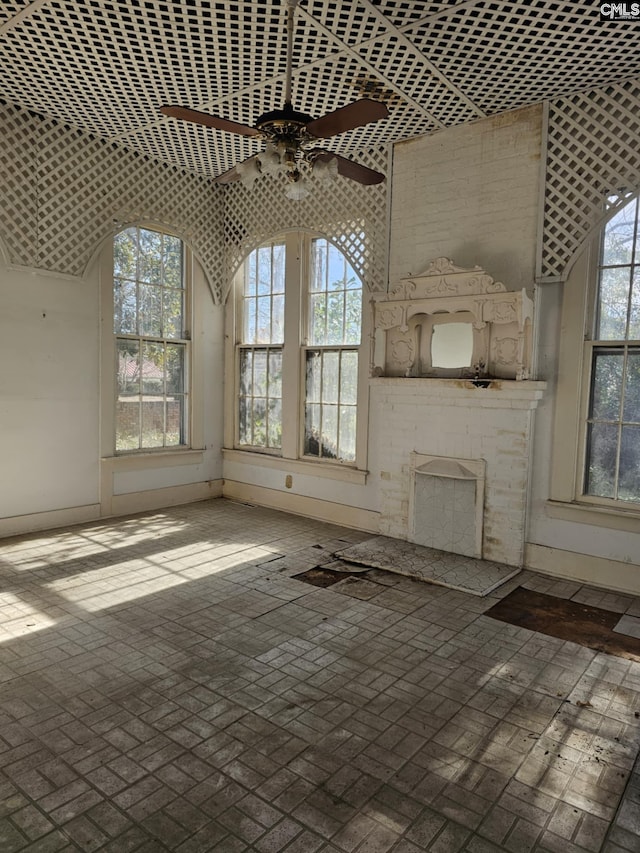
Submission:
[[[386,174],[389,151],[360,152],[357,161]],[[321,233],[333,240],[371,291],[386,289],[387,182],[362,186],[346,178],[322,183],[311,178],[302,201],[285,197],[285,179],[260,177],[253,187],[228,185],[225,195],[227,281],[256,246],[292,228]]]

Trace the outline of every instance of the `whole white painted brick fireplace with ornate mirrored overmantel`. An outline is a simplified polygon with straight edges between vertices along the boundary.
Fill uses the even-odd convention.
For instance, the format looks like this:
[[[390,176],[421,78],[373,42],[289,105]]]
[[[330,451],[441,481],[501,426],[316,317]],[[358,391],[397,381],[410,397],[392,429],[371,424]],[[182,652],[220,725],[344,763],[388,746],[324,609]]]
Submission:
[[[374,318],[380,532],[522,565],[546,387],[529,379],[530,297],[481,267],[436,258],[376,297]]]

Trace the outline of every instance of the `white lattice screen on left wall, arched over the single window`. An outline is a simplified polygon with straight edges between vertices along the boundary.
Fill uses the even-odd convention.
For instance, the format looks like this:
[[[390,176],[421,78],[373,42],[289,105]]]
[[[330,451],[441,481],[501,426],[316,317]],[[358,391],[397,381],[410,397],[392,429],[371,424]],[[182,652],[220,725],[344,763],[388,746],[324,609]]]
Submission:
[[[0,229],[11,263],[81,276],[120,225],[175,230],[224,290],[223,192],[205,178],[0,107]]]

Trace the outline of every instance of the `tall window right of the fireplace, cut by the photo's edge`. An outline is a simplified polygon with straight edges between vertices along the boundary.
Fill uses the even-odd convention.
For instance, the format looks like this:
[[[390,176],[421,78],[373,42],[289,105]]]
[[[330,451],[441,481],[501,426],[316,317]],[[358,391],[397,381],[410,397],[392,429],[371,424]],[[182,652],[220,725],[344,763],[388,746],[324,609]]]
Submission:
[[[584,493],[640,502],[640,232],[638,199],[604,229],[593,340]]]

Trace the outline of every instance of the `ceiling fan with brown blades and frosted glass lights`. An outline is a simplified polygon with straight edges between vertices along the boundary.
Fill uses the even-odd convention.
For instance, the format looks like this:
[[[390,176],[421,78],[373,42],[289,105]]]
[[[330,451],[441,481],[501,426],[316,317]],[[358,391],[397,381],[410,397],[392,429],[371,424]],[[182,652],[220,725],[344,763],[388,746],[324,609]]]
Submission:
[[[250,185],[262,174],[284,173],[289,182],[286,195],[289,198],[304,198],[309,192],[304,180],[303,164],[306,163],[310,164],[314,173],[321,177],[331,178],[341,175],[361,184],[378,184],[384,180],[382,173],[334,154],[325,148],[316,147],[316,140],[328,139],[339,133],[362,127],[369,122],[386,118],[389,111],[385,104],[381,101],[362,98],[317,119],[293,109],[291,103],[293,31],[298,1],[287,0],[287,62],[285,102],[282,109],[272,110],[260,116],[255,127],[188,107],[166,105],[160,107],[160,112],[172,118],[195,122],[216,130],[253,136],[266,143],[263,152],[237,163],[215,178],[216,183],[228,184],[242,180],[243,183]]]

